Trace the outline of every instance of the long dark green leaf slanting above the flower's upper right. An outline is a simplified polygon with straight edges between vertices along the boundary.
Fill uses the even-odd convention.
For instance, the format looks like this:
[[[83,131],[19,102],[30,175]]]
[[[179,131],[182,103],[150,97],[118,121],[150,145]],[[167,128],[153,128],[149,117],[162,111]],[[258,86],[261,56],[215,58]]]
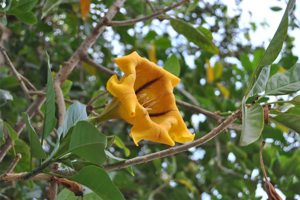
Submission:
[[[194,28],[191,24],[180,19],[170,19],[170,22],[174,30],[179,34],[184,35],[189,42],[193,42],[204,51],[219,54],[219,49],[214,45],[211,39],[205,36],[198,29]]]

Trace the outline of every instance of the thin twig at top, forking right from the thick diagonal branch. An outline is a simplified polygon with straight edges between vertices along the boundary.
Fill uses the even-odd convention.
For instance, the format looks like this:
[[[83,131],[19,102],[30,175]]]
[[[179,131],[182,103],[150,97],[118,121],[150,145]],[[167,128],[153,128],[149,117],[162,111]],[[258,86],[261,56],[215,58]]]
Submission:
[[[186,1],[181,1],[177,4],[174,4],[170,7],[165,8],[164,10],[152,13],[152,14],[147,15],[147,16],[143,16],[143,17],[136,18],[136,19],[124,20],[124,21],[111,21],[111,22],[106,23],[105,25],[107,25],[107,26],[127,26],[127,25],[136,24],[137,22],[146,21],[146,20],[158,17],[158,16],[160,16],[160,15],[162,15],[162,14],[164,14],[164,13],[170,11],[170,10],[173,10],[174,8],[179,7],[182,4],[186,4],[188,2],[190,2],[190,1],[187,1],[187,0]]]

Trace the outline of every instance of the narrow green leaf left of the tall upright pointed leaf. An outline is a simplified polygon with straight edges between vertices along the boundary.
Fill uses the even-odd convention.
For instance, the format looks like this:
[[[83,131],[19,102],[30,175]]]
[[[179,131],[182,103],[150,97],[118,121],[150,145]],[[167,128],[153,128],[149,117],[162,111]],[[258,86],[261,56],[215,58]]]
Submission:
[[[33,127],[30,124],[30,119],[28,114],[26,112],[22,112],[22,117],[26,123],[27,132],[29,133],[30,153],[32,158],[46,159],[47,156],[44,152],[40,140],[38,139],[38,135],[35,132],[35,129],[33,129]]]

